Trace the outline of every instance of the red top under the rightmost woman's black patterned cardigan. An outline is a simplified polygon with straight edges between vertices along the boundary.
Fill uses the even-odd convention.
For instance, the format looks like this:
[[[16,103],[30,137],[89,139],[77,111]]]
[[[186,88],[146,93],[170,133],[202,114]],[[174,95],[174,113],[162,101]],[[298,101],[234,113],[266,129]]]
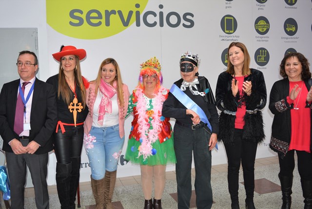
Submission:
[[[298,84],[299,88],[301,88],[297,98],[295,100],[291,100],[287,97],[287,102],[289,104],[293,104],[293,109],[291,109],[292,135],[289,150],[295,149],[310,153],[311,109],[305,108],[308,89],[303,81],[289,82],[289,92],[291,92],[291,89],[295,84]]]

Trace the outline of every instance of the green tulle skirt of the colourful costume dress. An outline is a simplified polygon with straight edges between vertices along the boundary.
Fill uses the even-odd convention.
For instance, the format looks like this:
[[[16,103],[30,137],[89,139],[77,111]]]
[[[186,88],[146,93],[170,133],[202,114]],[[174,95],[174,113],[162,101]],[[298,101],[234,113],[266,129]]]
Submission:
[[[174,137],[168,139],[163,143],[159,143],[157,140],[152,144],[153,148],[156,149],[156,154],[151,155],[143,160],[143,156],[138,156],[138,146],[141,143],[134,138],[128,140],[128,146],[125,154],[125,159],[129,160],[132,164],[147,165],[147,166],[156,166],[156,165],[167,165],[167,164],[176,164],[176,154],[174,149]]]

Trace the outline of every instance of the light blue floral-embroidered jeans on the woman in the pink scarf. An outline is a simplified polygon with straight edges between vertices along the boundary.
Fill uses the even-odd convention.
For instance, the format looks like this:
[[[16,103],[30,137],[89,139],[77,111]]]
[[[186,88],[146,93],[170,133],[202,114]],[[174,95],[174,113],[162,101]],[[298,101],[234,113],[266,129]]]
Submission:
[[[118,124],[111,127],[91,127],[89,135],[84,139],[84,146],[94,180],[104,178],[105,170],[117,170],[124,139],[119,136]]]

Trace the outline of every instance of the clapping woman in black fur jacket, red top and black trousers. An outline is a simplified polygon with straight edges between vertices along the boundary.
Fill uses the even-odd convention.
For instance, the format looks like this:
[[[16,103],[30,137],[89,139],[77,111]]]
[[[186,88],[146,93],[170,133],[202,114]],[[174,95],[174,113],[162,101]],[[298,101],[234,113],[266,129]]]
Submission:
[[[238,173],[243,167],[246,209],[254,209],[254,161],[257,144],[265,135],[261,109],[267,101],[262,72],[249,68],[246,46],[232,42],[228,47],[228,68],[218,77],[216,105],[219,116],[218,141],[228,157],[228,184],[232,209],[239,209]]]

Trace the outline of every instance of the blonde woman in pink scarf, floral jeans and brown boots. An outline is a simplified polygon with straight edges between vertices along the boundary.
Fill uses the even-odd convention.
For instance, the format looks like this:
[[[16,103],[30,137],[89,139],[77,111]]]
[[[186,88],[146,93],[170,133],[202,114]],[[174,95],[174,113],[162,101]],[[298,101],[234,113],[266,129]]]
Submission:
[[[122,84],[117,62],[105,59],[87,90],[89,116],[84,123],[84,147],[90,161],[91,185],[97,209],[112,209],[117,163],[124,143],[129,90]]]

